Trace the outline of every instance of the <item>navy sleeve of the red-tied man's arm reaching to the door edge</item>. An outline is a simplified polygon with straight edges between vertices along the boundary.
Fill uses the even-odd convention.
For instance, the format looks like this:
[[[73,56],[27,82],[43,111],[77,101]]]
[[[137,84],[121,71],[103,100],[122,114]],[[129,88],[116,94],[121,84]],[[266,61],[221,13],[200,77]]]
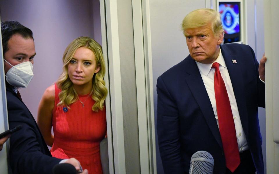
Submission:
[[[260,80],[260,75],[259,75],[259,62],[256,59],[255,52],[253,49],[249,46],[252,55],[253,55],[253,61],[256,66],[256,75],[257,75],[257,106],[265,108],[265,84]]]

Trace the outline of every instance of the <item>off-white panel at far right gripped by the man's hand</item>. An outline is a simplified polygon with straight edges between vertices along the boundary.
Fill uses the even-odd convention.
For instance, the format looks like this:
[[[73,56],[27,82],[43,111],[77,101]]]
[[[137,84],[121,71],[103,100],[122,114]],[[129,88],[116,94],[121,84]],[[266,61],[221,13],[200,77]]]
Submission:
[[[279,34],[277,0],[264,1],[267,173],[279,173]]]

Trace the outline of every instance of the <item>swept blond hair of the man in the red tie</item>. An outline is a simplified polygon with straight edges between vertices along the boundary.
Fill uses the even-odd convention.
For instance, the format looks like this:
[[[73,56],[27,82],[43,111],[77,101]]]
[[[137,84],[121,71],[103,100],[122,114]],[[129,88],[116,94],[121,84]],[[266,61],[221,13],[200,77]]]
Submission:
[[[211,24],[212,31],[216,36],[224,32],[219,12],[210,8],[201,8],[187,14],[181,24],[181,29],[185,31],[189,28],[198,28]]]

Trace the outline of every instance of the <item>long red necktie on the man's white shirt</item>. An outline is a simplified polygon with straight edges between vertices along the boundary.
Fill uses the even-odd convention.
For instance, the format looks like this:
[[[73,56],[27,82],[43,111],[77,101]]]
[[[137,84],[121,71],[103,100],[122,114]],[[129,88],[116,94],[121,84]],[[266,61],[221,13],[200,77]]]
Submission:
[[[240,157],[236,139],[235,123],[232,116],[232,108],[230,107],[230,100],[226,86],[219,70],[219,63],[213,63],[212,68],[215,68],[214,91],[219,130],[226,159],[226,167],[231,172],[234,172],[240,164]]]

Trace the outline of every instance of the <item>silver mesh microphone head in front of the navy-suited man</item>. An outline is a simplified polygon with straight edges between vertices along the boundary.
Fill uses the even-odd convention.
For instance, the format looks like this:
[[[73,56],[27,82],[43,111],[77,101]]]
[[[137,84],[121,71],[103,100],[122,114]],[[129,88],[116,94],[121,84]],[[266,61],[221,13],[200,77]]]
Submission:
[[[197,151],[191,157],[189,174],[212,174],[214,167],[214,159],[210,153],[206,151]]]

